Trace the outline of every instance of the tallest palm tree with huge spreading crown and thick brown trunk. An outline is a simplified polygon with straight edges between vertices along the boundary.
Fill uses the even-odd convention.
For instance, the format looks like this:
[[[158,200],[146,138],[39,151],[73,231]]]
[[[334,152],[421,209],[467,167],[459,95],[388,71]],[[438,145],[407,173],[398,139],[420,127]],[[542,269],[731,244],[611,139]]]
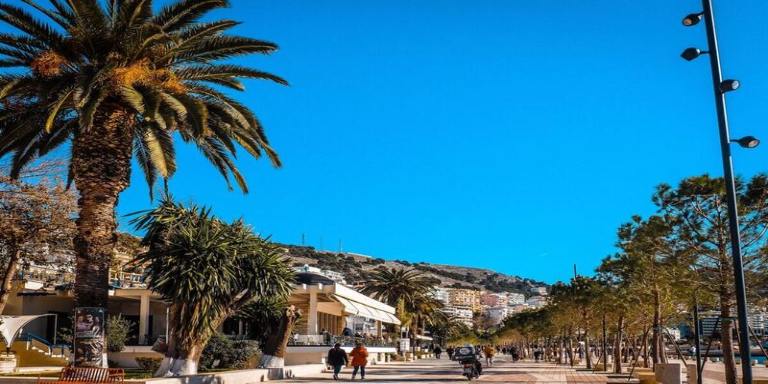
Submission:
[[[280,165],[254,114],[221,90],[242,91],[241,78],[286,84],[221,63],[277,46],[225,34],[232,20],[201,21],[227,0],[176,0],[157,12],[151,0],[23,1],[0,3],[0,21],[19,31],[0,34],[0,66],[17,68],[0,75],[0,157],[11,156],[16,176],[71,141],[69,182],[80,193],[75,305],[106,307],[115,206],[132,158],[150,190],[174,174],[178,139],[243,191],[238,146]]]

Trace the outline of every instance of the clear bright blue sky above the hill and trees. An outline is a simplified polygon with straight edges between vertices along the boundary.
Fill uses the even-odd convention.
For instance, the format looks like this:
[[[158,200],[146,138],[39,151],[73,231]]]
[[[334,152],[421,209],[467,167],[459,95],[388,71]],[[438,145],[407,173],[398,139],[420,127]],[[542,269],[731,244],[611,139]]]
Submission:
[[[193,148],[181,200],[273,239],[388,259],[492,268],[548,282],[591,271],[615,231],[653,212],[660,182],[722,173],[697,0],[232,0],[215,16],[278,43],[241,60],[288,88],[237,95],[285,166],[239,160],[228,192]],[[768,3],[716,0],[732,132],[766,135]],[[766,141],[768,143],[768,141]],[[735,150],[765,170],[767,146]],[[244,152],[243,152],[244,153]],[[119,213],[151,202],[138,169]],[[121,218],[122,228],[127,220]]]

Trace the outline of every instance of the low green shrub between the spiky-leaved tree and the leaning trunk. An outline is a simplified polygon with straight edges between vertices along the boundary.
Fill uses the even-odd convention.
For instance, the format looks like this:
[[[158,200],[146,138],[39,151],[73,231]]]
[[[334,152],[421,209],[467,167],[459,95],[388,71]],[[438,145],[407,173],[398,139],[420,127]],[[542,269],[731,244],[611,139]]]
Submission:
[[[256,343],[249,340],[232,340],[217,333],[208,341],[200,355],[201,371],[211,369],[241,369],[257,353]]]

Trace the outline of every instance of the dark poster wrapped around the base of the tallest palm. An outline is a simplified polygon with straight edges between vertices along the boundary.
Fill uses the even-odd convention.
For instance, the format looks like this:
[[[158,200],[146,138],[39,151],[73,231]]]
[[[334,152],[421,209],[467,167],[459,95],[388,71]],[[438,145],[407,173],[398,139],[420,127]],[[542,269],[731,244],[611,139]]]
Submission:
[[[75,308],[75,365],[104,367],[105,310],[100,307]]]

